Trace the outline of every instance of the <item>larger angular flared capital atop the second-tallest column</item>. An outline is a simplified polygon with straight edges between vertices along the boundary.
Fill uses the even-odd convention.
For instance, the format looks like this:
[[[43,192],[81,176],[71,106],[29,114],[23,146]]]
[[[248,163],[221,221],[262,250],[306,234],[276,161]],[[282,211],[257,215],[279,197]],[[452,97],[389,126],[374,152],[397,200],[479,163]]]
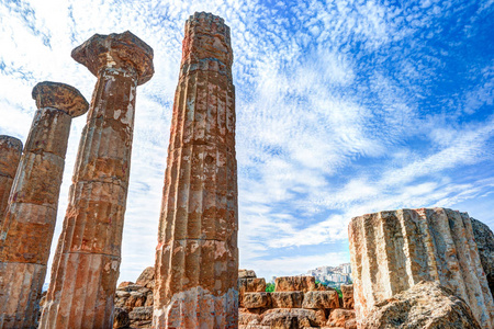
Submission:
[[[76,47],[71,56],[97,77],[103,68],[133,68],[137,71],[137,84],[143,84],[155,73],[153,48],[130,31],[110,35],[94,34]]]

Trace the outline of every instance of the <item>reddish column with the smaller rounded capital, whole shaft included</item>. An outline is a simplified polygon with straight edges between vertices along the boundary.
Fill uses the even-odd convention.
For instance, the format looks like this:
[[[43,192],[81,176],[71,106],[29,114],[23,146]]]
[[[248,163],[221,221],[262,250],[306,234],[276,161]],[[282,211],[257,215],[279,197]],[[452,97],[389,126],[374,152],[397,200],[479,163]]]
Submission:
[[[0,328],[35,328],[57,217],[72,117],[88,111],[74,87],[41,82],[38,110],[12,185],[0,240]]]

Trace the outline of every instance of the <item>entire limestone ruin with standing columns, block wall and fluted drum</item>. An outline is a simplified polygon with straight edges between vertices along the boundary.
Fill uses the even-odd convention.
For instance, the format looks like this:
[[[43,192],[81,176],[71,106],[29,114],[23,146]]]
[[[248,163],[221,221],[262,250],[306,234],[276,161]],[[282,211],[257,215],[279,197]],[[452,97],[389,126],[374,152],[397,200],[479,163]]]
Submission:
[[[307,276],[278,277],[266,292],[265,279],[237,271],[233,50],[229,27],[204,12],[186,22],[155,268],[116,287],[136,90],[153,77],[154,55],[127,31],[96,34],[72,57],[98,81],[42,302],[70,123],[88,103],[70,86],[38,83],[22,157],[19,139],[0,136],[0,328],[35,328],[38,303],[43,329],[356,329],[405,316],[493,328],[494,236],[465,213],[353,218],[355,286],[341,297]]]

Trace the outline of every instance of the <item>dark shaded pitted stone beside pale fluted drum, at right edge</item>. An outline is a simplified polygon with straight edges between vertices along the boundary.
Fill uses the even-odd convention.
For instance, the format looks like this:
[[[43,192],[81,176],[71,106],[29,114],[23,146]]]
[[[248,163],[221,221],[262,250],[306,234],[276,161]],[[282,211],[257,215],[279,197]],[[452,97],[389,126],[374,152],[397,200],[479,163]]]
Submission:
[[[494,296],[494,234],[487,225],[480,220],[472,219],[473,236],[481,259],[482,268],[487,277],[489,288]]]

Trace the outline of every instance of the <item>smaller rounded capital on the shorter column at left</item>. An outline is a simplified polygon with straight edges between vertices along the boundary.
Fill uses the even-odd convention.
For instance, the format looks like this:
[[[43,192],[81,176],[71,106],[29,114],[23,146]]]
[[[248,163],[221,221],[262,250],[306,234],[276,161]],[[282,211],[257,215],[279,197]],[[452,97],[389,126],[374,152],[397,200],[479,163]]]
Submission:
[[[54,107],[71,117],[80,116],[89,109],[88,101],[80,91],[65,83],[40,82],[33,88],[32,95],[37,109]]]

